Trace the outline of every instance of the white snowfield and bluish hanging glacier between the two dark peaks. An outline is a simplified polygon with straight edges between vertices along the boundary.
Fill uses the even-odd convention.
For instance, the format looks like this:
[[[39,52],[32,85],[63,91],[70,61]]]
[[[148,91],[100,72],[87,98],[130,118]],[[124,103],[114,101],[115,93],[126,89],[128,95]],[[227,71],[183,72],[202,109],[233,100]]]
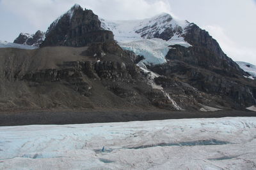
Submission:
[[[189,47],[182,34],[186,33],[189,22],[177,20],[168,13],[145,20],[108,21],[100,19],[103,29],[113,31],[118,45],[124,50],[131,50],[137,55],[145,57],[146,64],[163,64],[170,45]],[[161,34],[166,29],[172,29],[175,34],[165,41],[154,38],[154,34]]]

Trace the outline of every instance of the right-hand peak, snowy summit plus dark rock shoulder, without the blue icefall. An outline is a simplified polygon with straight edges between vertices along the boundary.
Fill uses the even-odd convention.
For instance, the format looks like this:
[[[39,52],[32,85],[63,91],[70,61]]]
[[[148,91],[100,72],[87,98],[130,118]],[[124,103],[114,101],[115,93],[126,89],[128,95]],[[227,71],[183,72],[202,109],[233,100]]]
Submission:
[[[168,13],[145,20],[106,21],[101,19],[101,22],[102,27],[113,31],[115,39],[120,42],[160,38],[172,45],[177,45],[173,48],[175,50],[171,49],[172,54],[169,53],[166,59],[179,59],[194,66],[211,67],[212,70],[226,69],[230,73],[246,74],[236,62],[225,55],[218,42],[207,31],[186,20],[177,20]],[[185,46],[186,43],[188,45]],[[183,52],[180,52],[181,49]]]

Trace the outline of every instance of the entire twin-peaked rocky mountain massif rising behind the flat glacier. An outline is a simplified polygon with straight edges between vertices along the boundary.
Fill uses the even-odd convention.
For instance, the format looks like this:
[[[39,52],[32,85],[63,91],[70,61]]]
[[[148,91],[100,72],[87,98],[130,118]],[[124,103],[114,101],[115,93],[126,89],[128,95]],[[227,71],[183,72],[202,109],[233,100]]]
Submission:
[[[142,47],[152,38],[170,43],[156,49],[166,52],[164,62],[146,62],[151,54]],[[133,50],[122,46],[126,41]],[[6,110],[218,111],[245,110],[256,103],[255,80],[246,78],[250,74],[207,31],[167,13],[107,21],[76,4],[50,25],[40,48],[0,52],[1,87],[6,89],[0,106]]]

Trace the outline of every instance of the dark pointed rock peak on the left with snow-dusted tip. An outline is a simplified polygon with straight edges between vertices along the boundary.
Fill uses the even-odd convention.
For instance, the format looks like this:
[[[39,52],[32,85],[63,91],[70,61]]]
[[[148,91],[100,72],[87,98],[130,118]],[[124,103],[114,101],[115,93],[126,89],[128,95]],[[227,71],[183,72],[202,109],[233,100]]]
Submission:
[[[113,41],[111,31],[103,31],[92,10],[73,6],[49,27],[41,46],[86,46]]]

